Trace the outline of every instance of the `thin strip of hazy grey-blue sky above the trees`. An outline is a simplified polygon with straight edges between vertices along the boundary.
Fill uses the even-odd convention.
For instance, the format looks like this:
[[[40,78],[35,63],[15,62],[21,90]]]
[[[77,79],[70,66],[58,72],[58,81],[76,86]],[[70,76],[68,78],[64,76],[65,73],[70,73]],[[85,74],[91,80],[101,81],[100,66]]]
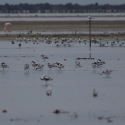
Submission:
[[[0,0],[0,4],[19,4],[19,3],[30,3],[30,4],[36,4],[36,3],[51,3],[51,4],[66,4],[66,3],[78,3],[78,4],[90,4],[98,2],[99,4],[123,4],[125,3],[125,0]]]

